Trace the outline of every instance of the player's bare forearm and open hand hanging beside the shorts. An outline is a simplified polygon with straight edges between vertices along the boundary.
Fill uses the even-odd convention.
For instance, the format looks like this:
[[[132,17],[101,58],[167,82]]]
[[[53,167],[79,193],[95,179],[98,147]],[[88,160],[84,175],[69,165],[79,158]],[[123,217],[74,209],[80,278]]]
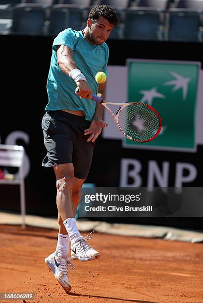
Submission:
[[[105,83],[99,84],[99,96],[104,94],[105,92]],[[96,103],[95,114],[92,120],[92,123],[88,129],[85,130],[84,135],[90,135],[88,138],[88,142],[95,140],[101,134],[102,127],[108,126],[107,123],[103,121],[103,106],[99,103]]]

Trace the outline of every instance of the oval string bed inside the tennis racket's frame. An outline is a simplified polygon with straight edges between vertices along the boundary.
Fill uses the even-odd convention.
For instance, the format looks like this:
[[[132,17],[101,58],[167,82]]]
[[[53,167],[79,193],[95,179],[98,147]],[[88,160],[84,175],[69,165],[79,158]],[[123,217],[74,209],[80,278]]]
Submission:
[[[126,135],[140,141],[151,139],[160,126],[156,112],[141,103],[123,107],[118,116],[118,123]]]

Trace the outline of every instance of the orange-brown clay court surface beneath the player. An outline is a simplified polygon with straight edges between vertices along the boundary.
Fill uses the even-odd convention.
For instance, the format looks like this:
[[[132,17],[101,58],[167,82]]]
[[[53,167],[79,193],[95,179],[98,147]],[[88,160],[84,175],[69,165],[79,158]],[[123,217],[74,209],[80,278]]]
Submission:
[[[24,303],[203,302],[202,243],[94,233],[101,258],[74,261],[67,295],[44,262],[56,238],[53,229],[0,225],[0,292],[35,293]]]

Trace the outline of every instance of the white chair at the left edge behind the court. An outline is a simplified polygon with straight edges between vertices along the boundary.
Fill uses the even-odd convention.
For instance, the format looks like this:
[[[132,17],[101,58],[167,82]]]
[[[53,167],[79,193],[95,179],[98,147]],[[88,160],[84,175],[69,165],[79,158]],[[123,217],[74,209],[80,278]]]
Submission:
[[[0,166],[19,167],[17,179],[0,179],[0,184],[18,184],[20,186],[20,211],[22,216],[22,228],[25,228],[25,185],[22,166],[23,156],[24,148],[22,146],[0,144]]]

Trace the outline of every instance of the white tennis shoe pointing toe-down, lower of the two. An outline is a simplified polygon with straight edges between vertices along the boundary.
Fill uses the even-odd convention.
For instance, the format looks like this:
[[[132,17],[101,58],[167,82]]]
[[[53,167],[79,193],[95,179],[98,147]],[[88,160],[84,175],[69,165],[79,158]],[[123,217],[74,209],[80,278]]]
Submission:
[[[71,285],[68,279],[68,266],[75,270],[75,266],[70,262],[70,258],[62,258],[57,256],[57,253],[51,253],[45,258],[45,263],[53,272],[56,280],[60,283],[66,293],[71,290]]]

